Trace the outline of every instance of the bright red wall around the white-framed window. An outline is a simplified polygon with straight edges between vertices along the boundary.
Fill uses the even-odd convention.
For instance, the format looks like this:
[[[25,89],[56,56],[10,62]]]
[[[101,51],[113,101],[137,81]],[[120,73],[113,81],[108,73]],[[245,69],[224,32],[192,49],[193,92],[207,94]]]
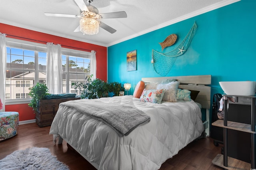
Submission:
[[[72,49],[79,48],[79,50],[84,49],[84,51],[88,51],[86,49],[94,50],[96,51],[97,78],[102,79],[104,81],[107,80],[107,47],[94,45],[91,43],[80,42],[76,40],[71,40],[68,38],[53,36],[50,34],[27,30],[24,28],[10,26],[2,23],[0,23],[0,32],[3,34],[7,34],[6,37],[8,38],[16,38],[16,39],[26,40],[30,42],[36,42],[36,43],[53,42],[53,43],[58,43],[65,48],[72,48]],[[23,38],[17,38],[15,36],[23,37]],[[65,45],[71,46],[71,47],[66,47]],[[5,107],[6,107],[6,111],[19,112],[20,121],[35,119],[35,114],[32,111],[32,108],[28,107],[28,104],[6,105]]]

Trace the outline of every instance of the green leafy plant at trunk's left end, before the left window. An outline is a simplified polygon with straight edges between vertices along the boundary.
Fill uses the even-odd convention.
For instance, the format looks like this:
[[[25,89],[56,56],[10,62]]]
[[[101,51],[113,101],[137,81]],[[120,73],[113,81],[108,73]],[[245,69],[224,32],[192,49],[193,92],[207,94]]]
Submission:
[[[38,102],[44,99],[46,95],[50,95],[50,93],[48,93],[48,87],[45,83],[36,83],[36,85],[30,87],[29,90],[28,95],[32,97],[32,100],[28,103],[28,106],[32,107],[36,112],[38,111]]]

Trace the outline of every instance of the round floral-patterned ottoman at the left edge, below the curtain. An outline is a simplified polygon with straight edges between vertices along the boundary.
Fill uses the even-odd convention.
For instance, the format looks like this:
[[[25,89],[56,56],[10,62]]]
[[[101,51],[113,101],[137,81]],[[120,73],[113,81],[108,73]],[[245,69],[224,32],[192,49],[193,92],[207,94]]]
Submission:
[[[18,112],[0,112],[0,141],[18,134],[18,127]]]

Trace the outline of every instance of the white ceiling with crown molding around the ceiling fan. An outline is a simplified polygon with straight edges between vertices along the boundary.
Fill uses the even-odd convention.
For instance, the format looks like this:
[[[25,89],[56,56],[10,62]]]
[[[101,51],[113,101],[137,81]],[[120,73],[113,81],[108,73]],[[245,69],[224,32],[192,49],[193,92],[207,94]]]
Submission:
[[[0,0],[0,23],[72,40],[110,46],[239,0],[94,0],[99,13],[125,11],[127,18],[102,19],[116,29],[96,35],[74,32],[79,18],[45,16],[44,12],[79,15],[74,0]],[[85,3],[87,1],[85,0]]]

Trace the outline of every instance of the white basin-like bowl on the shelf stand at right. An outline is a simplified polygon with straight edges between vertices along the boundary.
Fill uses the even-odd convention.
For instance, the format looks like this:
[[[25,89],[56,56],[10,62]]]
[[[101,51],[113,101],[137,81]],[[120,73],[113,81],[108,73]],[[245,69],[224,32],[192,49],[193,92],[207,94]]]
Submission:
[[[220,81],[220,87],[226,95],[254,96],[256,81]]]

